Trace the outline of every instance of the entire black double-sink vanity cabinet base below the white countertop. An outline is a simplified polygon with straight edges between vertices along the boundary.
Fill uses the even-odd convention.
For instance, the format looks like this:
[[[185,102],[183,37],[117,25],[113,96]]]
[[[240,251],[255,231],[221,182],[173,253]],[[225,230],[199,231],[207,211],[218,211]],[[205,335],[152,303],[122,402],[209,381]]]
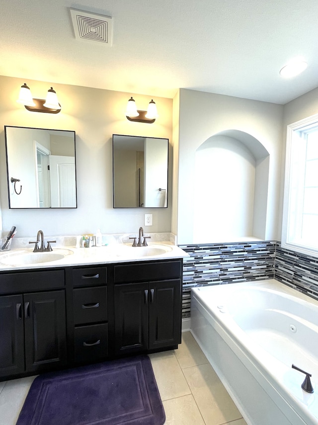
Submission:
[[[181,342],[182,260],[0,272],[0,380]]]

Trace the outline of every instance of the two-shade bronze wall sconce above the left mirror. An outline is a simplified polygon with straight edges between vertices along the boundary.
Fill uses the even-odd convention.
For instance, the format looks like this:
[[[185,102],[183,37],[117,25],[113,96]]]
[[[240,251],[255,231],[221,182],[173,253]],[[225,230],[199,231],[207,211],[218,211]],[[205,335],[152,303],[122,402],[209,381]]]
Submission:
[[[17,102],[31,112],[58,114],[61,111],[61,105],[53,87],[48,90],[46,99],[33,99],[30,88],[24,83],[20,88]]]

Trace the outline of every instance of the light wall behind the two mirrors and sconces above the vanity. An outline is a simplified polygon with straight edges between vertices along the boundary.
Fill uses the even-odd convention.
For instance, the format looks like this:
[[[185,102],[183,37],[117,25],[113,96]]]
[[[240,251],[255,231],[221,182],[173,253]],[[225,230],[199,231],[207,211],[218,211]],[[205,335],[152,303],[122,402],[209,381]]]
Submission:
[[[45,236],[96,232],[138,233],[144,214],[153,214],[147,232],[169,232],[171,197],[165,209],[113,209],[112,135],[123,134],[167,138],[172,146],[172,99],[154,98],[159,118],[154,124],[133,123],[125,116],[128,99],[133,96],[140,109],[147,109],[151,96],[87,87],[53,84],[62,105],[59,114],[27,111],[16,103],[24,80],[0,76],[0,204],[3,233],[12,225],[16,237],[34,237],[39,229]],[[34,98],[43,99],[52,83],[26,81]],[[8,209],[5,144],[3,126],[34,127],[76,132],[77,209]],[[170,146],[169,154],[172,155]],[[172,187],[172,161],[169,178]]]

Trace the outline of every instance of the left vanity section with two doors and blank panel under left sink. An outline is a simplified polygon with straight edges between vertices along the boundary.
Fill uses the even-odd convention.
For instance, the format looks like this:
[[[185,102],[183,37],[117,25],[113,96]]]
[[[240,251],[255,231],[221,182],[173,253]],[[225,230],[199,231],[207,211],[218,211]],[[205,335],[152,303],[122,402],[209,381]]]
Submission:
[[[63,289],[31,292],[48,285]],[[64,271],[0,274],[0,377],[67,364],[64,286]]]

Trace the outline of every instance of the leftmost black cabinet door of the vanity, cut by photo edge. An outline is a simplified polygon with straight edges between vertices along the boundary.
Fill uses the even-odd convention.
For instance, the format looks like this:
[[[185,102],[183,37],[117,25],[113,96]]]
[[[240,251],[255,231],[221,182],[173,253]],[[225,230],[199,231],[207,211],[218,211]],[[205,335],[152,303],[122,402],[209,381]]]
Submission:
[[[0,296],[0,376],[24,372],[22,295]]]

